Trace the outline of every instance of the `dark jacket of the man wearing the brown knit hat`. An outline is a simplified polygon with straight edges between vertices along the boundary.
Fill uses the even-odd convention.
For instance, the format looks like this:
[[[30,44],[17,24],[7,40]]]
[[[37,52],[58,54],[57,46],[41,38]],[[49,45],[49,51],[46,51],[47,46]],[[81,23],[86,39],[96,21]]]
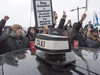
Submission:
[[[20,37],[15,37],[14,35],[15,33],[12,31],[10,37],[4,44],[4,49],[6,52],[30,47],[29,40],[24,34]]]

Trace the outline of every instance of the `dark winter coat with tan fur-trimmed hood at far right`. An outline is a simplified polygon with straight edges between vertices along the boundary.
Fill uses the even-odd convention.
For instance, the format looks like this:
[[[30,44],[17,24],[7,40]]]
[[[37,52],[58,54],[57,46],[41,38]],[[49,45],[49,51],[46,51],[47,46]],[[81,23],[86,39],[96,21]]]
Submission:
[[[100,48],[100,42],[97,40],[97,38],[93,37],[91,34],[87,35],[86,43],[87,47]]]

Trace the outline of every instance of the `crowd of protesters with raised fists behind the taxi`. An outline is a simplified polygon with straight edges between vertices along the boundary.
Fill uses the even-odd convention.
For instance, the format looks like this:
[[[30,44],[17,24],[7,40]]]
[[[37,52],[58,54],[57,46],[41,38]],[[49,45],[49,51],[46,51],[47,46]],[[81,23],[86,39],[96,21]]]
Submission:
[[[63,36],[68,36],[70,42],[73,44],[74,40],[79,42],[80,47],[100,48],[100,38],[98,34],[98,28],[94,28],[91,21],[83,27],[82,22],[87,17],[83,14],[79,22],[75,22],[71,25],[71,20],[68,20],[65,24],[67,15],[65,12],[59,22],[58,29],[63,29]],[[55,27],[58,15],[55,13],[53,16]],[[20,24],[14,24],[12,26],[5,26],[9,17],[4,16],[0,21],[0,54],[7,52],[29,48],[30,41],[35,41],[36,34],[48,34],[49,27],[45,25],[43,28],[29,27],[27,31],[23,29]]]

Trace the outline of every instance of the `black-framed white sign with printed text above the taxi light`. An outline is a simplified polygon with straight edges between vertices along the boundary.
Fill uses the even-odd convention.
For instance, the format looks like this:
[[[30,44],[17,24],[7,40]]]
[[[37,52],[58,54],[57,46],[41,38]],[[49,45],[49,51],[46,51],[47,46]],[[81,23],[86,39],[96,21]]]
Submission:
[[[38,27],[53,25],[51,0],[33,0],[35,22]]]

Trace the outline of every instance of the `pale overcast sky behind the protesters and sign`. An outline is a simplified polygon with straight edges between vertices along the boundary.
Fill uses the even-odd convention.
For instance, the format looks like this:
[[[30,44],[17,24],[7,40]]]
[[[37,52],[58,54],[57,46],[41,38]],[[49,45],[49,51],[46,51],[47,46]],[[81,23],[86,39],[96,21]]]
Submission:
[[[63,11],[66,11],[67,14],[66,22],[68,19],[71,19],[72,23],[77,21],[77,11],[70,12],[70,10],[76,9],[77,6],[84,7],[85,2],[86,0],[52,0],[53,10],[58,14],[57,23],[59,23]],[[84,9],[80,9],[80,19],[84,11]],[[100,16],[100,0],[89,0],[84,25],[89,20],[93,21],[93,11],[97,12],[98,17]],[[34,13],[31,12],[31,0],[0,0],[0,19],[5,15],[10,17],[6,25],[20,24],[23,27],[29,27],[30,24],[35,25]]]

